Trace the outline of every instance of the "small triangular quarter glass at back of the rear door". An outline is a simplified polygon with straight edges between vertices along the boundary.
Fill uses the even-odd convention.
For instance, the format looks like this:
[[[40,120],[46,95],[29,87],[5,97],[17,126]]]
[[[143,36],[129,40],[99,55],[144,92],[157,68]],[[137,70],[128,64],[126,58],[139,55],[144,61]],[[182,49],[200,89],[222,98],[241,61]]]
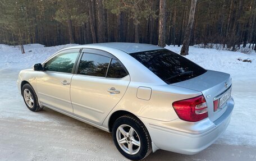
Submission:
[[[125,76],[127,76],[127,72],[124,67],[122,67],[121,62],[116,59],[112,59],[108,68],[107,77],[119,79]]]

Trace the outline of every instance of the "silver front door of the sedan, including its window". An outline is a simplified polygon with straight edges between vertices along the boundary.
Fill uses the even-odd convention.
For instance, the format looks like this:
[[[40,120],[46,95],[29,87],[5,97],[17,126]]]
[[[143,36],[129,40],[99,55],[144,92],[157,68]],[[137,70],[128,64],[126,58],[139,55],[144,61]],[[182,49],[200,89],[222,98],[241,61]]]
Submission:
[[[70,100],[70,83],[80,49],[68,49],[57,53],[44,63],[44,71],[38,72],[36,89],[39,101],[45,106],[73,113]]]

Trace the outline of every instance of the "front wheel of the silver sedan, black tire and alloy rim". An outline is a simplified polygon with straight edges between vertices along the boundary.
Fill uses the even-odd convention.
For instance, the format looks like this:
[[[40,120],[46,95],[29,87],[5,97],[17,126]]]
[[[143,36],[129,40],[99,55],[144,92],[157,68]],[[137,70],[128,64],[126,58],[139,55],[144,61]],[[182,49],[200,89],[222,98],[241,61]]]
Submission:
[[[22,86],[22,97],[26,106],[33,112],[40,111],[41,108],[38,103],[38,97],[35,94],[35,90],[30,84]]]

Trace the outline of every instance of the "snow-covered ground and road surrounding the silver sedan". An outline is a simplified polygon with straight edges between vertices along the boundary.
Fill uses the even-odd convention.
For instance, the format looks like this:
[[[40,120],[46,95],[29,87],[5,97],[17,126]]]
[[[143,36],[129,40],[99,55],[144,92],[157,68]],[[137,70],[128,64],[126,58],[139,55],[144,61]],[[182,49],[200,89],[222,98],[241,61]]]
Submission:
[[[117,158],[119,158],[117,160],[124,160],[115,149],[111,135],[107,132],[101,132],[97,128],[79,121],[73,121],[71,118],[67,119],[62,114],[57,114],[49,109],[39,113],[30,112],[18,93],[16,79],[20,70],[31,68],[35,63],[41,63],[53,53],[69,46],[70,44],[56,47],[44,47],[40,44],[25,45],[26,53],[21,54],[19,48],[0,45],[0,160],[1,157],[4,157],[4,160],[13,160],[13,158],[10,158],[13,155],[15,155],[16,160],[19,160],[19,157],[23,160],[28,158],[30,160],[38,160],[38,158],[39,160],[51,160],[49,156],[55,157],[57,160],[62,160],[65,157],[67,158],[64,160],[75,159],[70,158],[71,155],[68,156],[71,152],[72,156],[75,155],[77,158],[86,155],[88,157],[86,160],[115,160]],[[176,53],[180,52],[180,47],[170,46],[166,48]],[[216,141],[216,144],[248,146],[255,149],[256,53],[244,54],[226,50],[190,47],[189,55],[186,58],[209,70],[227,72],[232,76],[232,96],[235,99],[234,113],[230,126]],[[250,59],[252,63],[237,59]],[[36,126],[31,122],[36,122]],[[47,134],[52,134],[52,136],[47,136]],[[26,135],[35,135],[34,139],[36,141],[33,141],[33,138],[29,141],[30,138]],[[59,135],[61,135],[60,139]],[[17,140],[17,142],[12,142],[13,140]],[[22,140],[29,142],[22,142]],[[67,140],[70,140],[70,142]],[[44,142],[46,145],[42,145]],[[49,142],[53,142],[56,146],[48,145]],[[102,145],[99,142],[102,142]],[[63,144],[63,149],[60,149],[57,144]],[[36,150],[52,155],[41,155],[33,150],[24,153],[20,150],[24,146],[31,149],[36,146]],[[51,146],[51,148],[45,151],[48,146]],[[89,148],[88,146],[92,147]],[[86,150],[81,151],[80,149]],[[57,154],[52,153],[54,150],[57,151]],[[62,157],[60,157],[61,154],[58,155],[61,150],[66,153]],[[47,155],[48,158],[44,155]],[[104,158],[104,156],[108,157]],[[98,159],[95,159],[95,157]],[[256,159],[255,155],[253,157]]]

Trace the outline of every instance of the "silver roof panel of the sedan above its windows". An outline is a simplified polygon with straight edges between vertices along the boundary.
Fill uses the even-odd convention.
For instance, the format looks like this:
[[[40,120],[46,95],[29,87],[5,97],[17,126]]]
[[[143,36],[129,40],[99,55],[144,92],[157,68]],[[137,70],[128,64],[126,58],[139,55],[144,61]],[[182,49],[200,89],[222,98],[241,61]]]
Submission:
[[[156,45],[150,45],[150,44],[140,44],[140,43],[95,43],[95,44],[86,44],[86,45],[79,45],[70,47],[71,48],[97,48],[97,47],[108,47],[108,48],[115,48],[118,50],[122,50],[123,52],[126,52],[128,54],[130,53],[137,53],[137,52],[144,52],[148,50],[157,50],[157,49],[163,49],[162,47],[158,47]]]

